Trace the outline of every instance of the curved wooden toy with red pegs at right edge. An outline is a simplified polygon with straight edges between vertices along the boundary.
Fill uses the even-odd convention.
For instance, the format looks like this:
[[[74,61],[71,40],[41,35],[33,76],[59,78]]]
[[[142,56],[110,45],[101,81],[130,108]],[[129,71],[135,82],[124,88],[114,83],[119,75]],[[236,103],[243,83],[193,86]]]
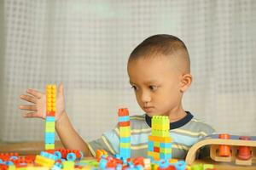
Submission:
[[[189,149],[186,162],[191,165],[199,149],[206,145],[211,146],[210,156],[213,161],[234,162],[236,165],[247,166],[256,163],[256,137],[229,134],[212,134],[194,144]]]

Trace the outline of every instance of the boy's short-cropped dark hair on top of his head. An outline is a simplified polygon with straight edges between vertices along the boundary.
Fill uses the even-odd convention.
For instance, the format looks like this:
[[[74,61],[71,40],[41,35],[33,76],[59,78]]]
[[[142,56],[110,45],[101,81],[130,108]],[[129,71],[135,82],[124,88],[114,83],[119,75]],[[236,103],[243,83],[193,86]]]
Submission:
[[[141,42],[131,52],[129,62],[140,58],[154,58],[159,55],[170,56],[177,53],[179,54],[178,57],[185,59],[190,70],[189,52],[184,42],[172,35],[157,34]]]

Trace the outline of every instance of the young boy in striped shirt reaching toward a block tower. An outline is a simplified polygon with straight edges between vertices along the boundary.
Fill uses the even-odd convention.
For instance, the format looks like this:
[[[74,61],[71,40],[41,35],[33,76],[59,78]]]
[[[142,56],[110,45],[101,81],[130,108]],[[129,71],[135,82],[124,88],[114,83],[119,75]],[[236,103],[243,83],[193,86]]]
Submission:
[[[127,71],[137,103],[146,113],[131,116],[131,157],[147,157],[151,117],[155,115],[169,116],[172,122],[173,158],[184,159],[191,145],[214,132],[212,127],[183,110],[183,93],[189,88],[192,76],[188,50],[179,38],[171,35],[148,37],[132,51]],[[28,89],[27,94],[20,98],[34,105],[20,105],[21,110],[32,111],[24,116],[44,118],[45,94],[32,89]],[[89,143],[81,139],[65,111],[62,84],[58,88],[56,107],[55,129],[65,147],[83,150],[85,156],[95,156],[97,149],[107,150],[110,155],[119,152],[118,127]]]

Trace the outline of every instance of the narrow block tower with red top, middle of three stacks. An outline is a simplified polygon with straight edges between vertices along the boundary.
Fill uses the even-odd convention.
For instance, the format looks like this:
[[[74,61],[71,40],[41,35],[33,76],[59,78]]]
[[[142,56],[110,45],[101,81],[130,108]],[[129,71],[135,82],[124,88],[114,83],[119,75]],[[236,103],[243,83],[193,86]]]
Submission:
[[[126,160],[131,157],[131,127],[129,111],[119,109],[119,155]]]

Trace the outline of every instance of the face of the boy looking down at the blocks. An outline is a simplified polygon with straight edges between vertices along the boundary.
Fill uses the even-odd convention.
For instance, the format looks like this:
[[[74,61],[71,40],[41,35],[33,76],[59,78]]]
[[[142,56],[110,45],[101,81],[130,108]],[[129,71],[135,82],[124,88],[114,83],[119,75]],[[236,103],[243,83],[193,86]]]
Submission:
[[[128,74],[137,103],[148,116],[170,116],[181,111],[182,74],[175,69],[172,59],[160,56],[131,60]]]

